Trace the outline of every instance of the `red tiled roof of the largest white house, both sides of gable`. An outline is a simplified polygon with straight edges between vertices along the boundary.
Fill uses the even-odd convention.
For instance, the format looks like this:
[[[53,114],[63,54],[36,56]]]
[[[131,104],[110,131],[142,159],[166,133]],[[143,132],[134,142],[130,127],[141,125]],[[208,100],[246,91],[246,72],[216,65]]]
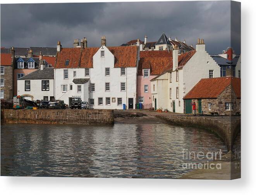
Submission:
[[[115,68],[136,67],[137,46],[131,47],[107,47],[115,56]],[[93,68],[93,56],[100,47],[62,48],[57,54],[55,68]],[[69,65],[65,66],[65,61],[69,59]]]

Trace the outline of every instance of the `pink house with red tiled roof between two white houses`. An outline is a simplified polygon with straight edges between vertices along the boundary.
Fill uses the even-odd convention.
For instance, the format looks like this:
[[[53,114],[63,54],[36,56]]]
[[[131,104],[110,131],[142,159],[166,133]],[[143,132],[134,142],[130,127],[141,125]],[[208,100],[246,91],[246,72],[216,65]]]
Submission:
[[[137,103],[152,107],[150,80],[172,63],[172,51],[141,51],[137,74]]]

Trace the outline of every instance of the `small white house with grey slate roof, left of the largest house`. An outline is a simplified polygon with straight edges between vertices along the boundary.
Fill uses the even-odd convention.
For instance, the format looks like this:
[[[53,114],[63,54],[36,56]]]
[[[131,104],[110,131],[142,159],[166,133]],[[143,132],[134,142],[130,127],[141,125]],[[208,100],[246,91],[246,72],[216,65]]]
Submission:
[[[17,95],[28,100],[50,101],[54,99],[54,90],[54,68],[45,68],[45,64],[17,80]]]

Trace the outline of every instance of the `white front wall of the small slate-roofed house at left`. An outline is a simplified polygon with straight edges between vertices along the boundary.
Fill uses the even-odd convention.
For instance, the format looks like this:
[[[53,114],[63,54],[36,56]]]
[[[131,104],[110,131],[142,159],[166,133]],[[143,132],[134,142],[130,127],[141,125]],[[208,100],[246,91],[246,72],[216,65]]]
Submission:
[[[43,100],[44,96],[48,96],[50,100],[50,96],[54,96],[54,80],[43,80],[49,80],[49,91],[42,91],[42,80],[30,80],[30,91],[25,91],[25,80],[17,80],[17,95],[29,94],[33,96],[31,100]]]

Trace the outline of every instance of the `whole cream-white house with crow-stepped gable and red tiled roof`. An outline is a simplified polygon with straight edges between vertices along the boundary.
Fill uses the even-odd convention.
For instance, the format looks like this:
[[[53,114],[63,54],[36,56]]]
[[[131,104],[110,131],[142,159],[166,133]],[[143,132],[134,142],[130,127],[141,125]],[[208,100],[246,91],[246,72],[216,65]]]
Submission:
[[[151,80],[152,105],[155,109],[190,113],[190,102],[183,97],[201,78],[220,77],[220,66],[206,52],[203,40],[198,40],[196,50],[178,54],[178,49],[173,51],[170,67]]]

